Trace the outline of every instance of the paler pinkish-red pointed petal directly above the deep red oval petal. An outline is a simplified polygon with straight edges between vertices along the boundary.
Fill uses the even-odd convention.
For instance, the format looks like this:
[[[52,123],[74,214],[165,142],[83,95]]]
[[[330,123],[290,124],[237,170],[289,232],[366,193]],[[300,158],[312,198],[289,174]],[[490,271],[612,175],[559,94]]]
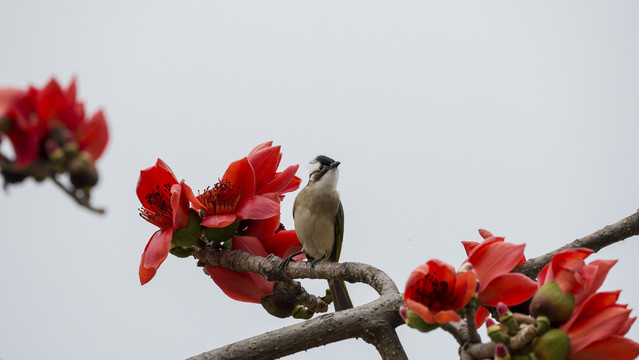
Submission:
[[[499,238],[492,238],[499,239]],[[479,293],[497,276],[510,272],[524,254],[525,244],[515,245],[498,240],[485,240],[468,256],[479,278]]]

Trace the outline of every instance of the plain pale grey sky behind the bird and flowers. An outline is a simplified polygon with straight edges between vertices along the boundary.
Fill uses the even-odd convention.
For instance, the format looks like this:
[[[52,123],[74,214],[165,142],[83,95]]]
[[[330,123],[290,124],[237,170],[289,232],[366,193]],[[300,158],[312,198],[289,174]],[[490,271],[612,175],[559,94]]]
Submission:
[[[315,155],[340,160],[341,258],[402,289],[428,259],[459,266],[479,228],[534,257],[639,207],[637,2],[0,4],[0,86],[76,75],[112,135],[106,216],[50,182],[0,192],[2,360],[180,359],[299,322],[230,300],[192,258],[139,285],[156,228],[135,185],[157,157],[194,189],[266,140],[304,183]],[[635,309],[637,254],[632,238],[593,256],[620,259],[604,288]],[[398,331],[412,359],[456,357],[441,330]],[[377,357],[352,340],[291,358],[327,356]]]

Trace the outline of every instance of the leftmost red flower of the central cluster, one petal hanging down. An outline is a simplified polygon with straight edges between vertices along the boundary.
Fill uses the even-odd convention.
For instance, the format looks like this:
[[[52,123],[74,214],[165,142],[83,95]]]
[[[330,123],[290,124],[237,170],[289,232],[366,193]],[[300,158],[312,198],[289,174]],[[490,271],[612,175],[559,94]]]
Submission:
[[[184,181],[178,184],[171,168],[161,159],[140,171],[136,193],[142,218],[160,228],[146,245],[140,262],[140,282],[149,282],[169,255],[173,232],[188,225],[189,203]]]

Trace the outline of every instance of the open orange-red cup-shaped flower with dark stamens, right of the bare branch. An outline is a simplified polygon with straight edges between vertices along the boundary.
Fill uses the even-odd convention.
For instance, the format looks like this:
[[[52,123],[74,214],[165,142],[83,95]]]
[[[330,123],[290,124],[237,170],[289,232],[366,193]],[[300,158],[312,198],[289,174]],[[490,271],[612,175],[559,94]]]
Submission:
[[[429,324],[460,321],[456,311],[466,306],[476,287],[473,271],[458,274],[451,265],[429,260],[408,277],[404,302]]]

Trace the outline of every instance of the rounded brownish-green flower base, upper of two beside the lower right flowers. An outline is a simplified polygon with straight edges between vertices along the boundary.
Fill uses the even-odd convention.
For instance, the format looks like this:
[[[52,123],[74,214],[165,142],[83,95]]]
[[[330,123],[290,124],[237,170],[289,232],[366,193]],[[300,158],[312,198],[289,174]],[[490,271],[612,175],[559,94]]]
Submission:
[[[530,315],[548,317],[553,325],[561,325],[570,319],[575,307],[575,296],[563,293],[554,281],[548,281],[537,290],[530,302]]]

